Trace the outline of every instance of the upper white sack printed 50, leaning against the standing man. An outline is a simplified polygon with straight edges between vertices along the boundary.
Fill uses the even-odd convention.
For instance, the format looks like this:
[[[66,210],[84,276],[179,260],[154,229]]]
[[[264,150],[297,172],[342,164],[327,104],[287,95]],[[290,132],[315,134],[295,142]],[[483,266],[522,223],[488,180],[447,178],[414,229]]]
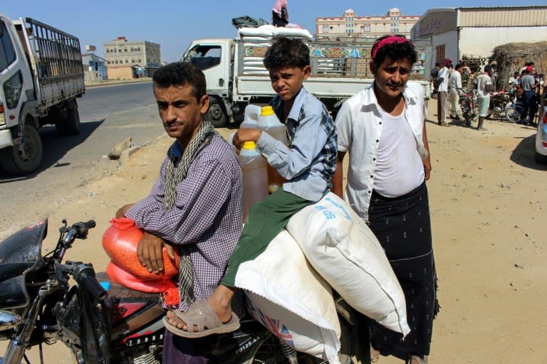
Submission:
[[[287,225],[304,255],[360,313],[406,336],[405,294],[368,225],[334,193],[298,211]]]

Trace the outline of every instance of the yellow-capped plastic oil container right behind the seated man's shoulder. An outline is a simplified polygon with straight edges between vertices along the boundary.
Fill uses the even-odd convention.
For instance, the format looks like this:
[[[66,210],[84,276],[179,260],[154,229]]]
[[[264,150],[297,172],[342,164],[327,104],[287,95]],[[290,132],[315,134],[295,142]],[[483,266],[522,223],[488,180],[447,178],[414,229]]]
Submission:
[[[256,150],[254,141],[246,141],[239,151],[239,166],[243,172],[243,222],[251,206],[268,196],[266,159]]]

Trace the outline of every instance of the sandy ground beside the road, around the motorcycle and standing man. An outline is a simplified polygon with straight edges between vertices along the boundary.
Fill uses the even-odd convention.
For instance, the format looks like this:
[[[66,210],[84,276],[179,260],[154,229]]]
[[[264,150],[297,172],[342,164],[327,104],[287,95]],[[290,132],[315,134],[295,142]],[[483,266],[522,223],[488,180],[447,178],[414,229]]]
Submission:
[[[436,120],[435,100],[429,119]],[[427,124],[432,154],[428,181],[434,254],[442,306],[434,322],[430,363],[547,363],[547,166],[533,161],[535,129],[486,121],[487,132]],[[220,129],[226,137],[229,129]],[[49,210],[45,249],[61,219],[93,218],[97,228],[66,259],[108,257],[101,237],[125,203],[147,195],[171,140],[137,151],[107,178],[62,201],[37,201]],[[4,347],[5,344],[2,344]],[[61,344],[46,348],[46,363],[68,363]],[[36,350],[33,350],[36,357]],[[402,363],[382,357],[380,363]]]

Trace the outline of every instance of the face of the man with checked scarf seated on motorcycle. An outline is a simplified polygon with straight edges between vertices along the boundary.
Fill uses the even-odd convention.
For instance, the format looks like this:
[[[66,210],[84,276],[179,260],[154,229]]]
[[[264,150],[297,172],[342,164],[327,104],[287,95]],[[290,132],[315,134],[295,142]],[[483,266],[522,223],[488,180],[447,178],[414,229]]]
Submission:
[[[186,146],[202,122],[202,114],[209,108],[209,97],[197,100],[193,87],[183,85],[158,87],[154,85],[157,109],[167,135]]]

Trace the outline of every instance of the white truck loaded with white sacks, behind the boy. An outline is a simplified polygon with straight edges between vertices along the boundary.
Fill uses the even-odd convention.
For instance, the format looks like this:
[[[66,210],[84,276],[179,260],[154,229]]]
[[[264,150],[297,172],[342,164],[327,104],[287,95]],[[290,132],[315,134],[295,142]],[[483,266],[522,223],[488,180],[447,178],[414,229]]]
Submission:
[[[239,28],[236,39],[197,39],[184,52],[182,61],[196,65],[205,74],[210,97],[208,118],[215,127],[240,122],[247,104],[263,104],[275,95],[262,64],[275,36],[301,38],[308,45],[312,73],[304,86],[333,116],[344,100],[373,82],[369,63],[374,38],[313,40],[303,29],[261,26]],[[432,47],[427,41],[417,41],[415,47],[418,61],[411,80],[422,83],[424,95],[429,96]]]

